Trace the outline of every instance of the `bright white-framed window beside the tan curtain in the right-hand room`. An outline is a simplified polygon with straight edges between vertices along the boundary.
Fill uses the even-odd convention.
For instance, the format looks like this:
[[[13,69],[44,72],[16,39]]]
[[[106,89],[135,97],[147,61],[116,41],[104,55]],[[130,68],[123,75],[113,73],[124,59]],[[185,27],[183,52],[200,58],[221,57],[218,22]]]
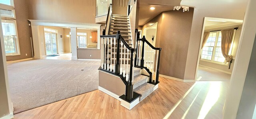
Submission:
[[[201,54],[201,60],[225,64],[221,51],[221,31],[210,32]]]

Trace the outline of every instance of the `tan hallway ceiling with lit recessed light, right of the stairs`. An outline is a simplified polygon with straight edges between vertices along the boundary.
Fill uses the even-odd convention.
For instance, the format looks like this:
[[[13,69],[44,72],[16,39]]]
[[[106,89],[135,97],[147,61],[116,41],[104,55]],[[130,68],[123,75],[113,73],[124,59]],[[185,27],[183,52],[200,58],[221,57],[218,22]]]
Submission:
[[[140,0],[139,25],[144,25],[164,11],[180,6],[181,0]],[[154,7],[155,10],[150,10]]]

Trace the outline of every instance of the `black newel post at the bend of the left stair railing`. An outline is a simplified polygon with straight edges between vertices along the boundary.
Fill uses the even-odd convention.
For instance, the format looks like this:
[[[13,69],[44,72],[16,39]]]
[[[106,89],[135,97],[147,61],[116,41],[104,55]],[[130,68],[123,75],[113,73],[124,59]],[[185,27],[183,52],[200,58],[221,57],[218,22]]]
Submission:
[[[120,60],[120,36],[121,36],[120,31],[118,31],[116,34],[116,39],[117,39],[116,67],[115,67],[116,74],[120,74],[120,63],[119,63],[119,60]]]

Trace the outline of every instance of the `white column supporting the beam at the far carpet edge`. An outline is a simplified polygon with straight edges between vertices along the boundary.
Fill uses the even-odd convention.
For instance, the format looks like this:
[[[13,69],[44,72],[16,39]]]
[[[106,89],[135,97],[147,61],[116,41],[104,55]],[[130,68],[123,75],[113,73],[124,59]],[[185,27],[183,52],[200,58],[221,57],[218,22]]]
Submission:
[[[76,28],[70,28],[71,31],[71,52],[72,60],[77,60],[77,49],[76,49]]]

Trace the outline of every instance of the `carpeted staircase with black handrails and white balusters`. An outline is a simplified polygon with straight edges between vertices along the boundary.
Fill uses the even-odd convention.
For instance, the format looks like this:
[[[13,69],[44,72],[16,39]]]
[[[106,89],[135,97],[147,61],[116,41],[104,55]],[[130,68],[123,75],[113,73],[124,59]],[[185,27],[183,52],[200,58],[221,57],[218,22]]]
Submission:
[[[104,84],[99,83],[99,87],[105,86],[108,88],[110,86],[111,88],[102,89],[102,87],[100,87],[99,90],[102,89],[103,92],[121,100],[121,105],[132,109],[132,107],[158,88],[158,69],[161,48],[152,46],[145,37],[139,39],[139,34],[137,34],[136,39],[134,39],[136,40],[134,45],[129,17],[112,14],[111,9],[112,6],[110,5],[105,28],[106,31],[104,30],[103,35],[100,36],[101,67],[99,68],[100,71],[105,73],[104,77],[99,79],[99,81],[104,82]],[[106,32],[107,35],[105,35]],[[136,47],[136,49],[134,47]],[[147,57],[147,61],[144,60],[145,49],[148,49],[148,51],[151,49],[150,53],[152,58]],[[156,52],[157,55],[155,54]],[[155,56],[157,59],[156,63],[154,63]],[[150,66],[148,65],[149,63]],[[155,78],[152,73],[154,69],[156,69]],[[109,78],[108,75],[110,76]],[[122,86],[123,84],[116,86],[115,82],[113,82],[116,77],[113,76],[119,77],[120,79],[116,80],[116,82],[122,80],[124,87]],[[106,84],[106,82],[109,83]],[[117,90],[124,89],[125,93],[122,93],[120,96]],[[112,90],[112,92],[109,90]],[[113,92],[116,92],[116,94]],[[117,94],[118,96],[116,96]]]

